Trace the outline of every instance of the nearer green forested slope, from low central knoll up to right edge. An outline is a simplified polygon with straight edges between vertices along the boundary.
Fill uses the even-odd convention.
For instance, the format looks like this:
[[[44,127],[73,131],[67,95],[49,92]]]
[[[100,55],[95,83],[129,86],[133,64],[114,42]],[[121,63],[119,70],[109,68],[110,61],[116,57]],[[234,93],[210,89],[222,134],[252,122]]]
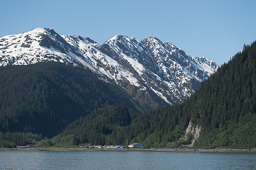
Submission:
[[[95,111],[76,120],[53,138],[51,145],[126,145],[128,141],[142,142],[147,147],[186,146],[194,138],[193,133],[184,138],[191,121],[192,127],[200,128],[195,147],[255,147],[255,49],[255,42],[244,46],[242,53],[222,65],[183,104],[142,114],[121,106],[104,108],[101,112],[105,116]],[[126,123],[121,123],[123,118]]]

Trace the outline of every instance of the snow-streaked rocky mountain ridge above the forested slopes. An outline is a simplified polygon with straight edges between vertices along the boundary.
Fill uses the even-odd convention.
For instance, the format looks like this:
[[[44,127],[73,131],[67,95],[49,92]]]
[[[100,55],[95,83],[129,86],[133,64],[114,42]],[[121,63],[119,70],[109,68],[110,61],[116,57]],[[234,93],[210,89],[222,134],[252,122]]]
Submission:
[[[88,37],[36,28],[0,37],[0,66],[47,61],[87,67],[103,79],[112,79],[144,108],[182,103],[218,69],[216,62],[193,58],[152,36],[139,41],[116,35],[98,45]]]

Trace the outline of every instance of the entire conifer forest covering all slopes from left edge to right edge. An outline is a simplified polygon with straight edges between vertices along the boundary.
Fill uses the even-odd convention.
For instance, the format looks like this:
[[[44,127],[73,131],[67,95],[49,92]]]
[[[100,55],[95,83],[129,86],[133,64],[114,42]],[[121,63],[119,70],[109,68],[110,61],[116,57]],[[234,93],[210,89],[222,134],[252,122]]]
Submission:
[[[73,69],[65,70],[61,64],[57,68],[64,70],[53,74],[56,63],[51,69],[44,69],[42,64],[36,73],[31,70],[35,66],[1,68],[0,142],[2,147],[20,145],[15,141],[19,131],[16,136],[28,136],[27,143],[39,141],[41,147],[126,146],[133,142],[146,147],[185,147],[192,143],[193,147],[256,147],[255,49],[255,42],[244,45],[242,52],[224,63],[183,104],[143,113],[128,98],[122,100],[127,103],[113,100],[113,105],[95,107],[98,99],[113,99],[113,89],[89,71],[76,70],[75,76],[88,74],[76,79]],[[62,87],[63,80],[73,86]],[[56,111],[58,105],[63,110]],[[185,134],[189,124],[192,131]],[[192,142],[196,127],[200,136]]]

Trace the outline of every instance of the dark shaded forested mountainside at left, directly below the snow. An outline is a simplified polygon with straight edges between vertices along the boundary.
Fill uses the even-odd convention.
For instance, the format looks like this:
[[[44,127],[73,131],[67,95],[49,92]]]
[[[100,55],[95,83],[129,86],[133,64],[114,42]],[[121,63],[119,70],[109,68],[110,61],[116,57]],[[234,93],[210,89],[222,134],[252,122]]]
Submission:
[[[0,67],[0,96],[0,131],[43,137],[53,137],[106,101],[141,109],[120,87],[92,71],[57,62]]]

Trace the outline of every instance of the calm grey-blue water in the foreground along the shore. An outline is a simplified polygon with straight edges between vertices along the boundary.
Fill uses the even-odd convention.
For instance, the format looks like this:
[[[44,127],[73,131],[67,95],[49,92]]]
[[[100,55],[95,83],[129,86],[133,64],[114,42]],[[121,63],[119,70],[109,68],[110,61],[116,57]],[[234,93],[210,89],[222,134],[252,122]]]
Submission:
[[[0,151],[0,169],[256,169],[256,153]]]

